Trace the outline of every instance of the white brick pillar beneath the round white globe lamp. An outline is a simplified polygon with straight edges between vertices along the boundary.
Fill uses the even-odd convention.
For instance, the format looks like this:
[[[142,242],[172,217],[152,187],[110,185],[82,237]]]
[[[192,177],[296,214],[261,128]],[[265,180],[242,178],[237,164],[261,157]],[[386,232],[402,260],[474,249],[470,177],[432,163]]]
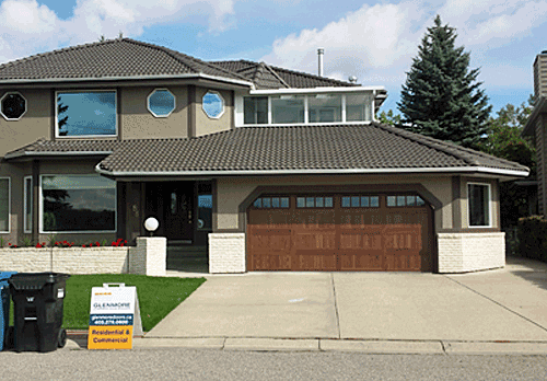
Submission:
[[[129,251],[129,272],[149,276],[165,276],[167,239],[164,236],[139,236],[137,247]]]

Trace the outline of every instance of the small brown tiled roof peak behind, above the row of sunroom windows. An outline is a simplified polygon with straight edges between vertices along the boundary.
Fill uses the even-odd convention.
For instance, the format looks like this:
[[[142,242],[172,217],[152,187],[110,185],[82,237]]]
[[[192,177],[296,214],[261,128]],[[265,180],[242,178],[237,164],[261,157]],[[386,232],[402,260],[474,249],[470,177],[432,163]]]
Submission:
[[[294,70],[288,70],[283,68],[278,68],[275,66],[266,65],[264,62],[253,62],[247,60],[238,60],[238,61],[214,61],[210,62],[232,72],[238,73],[241,76],[247,77],[249,72],[252,72],[253,68],[256,68],[260,65],[267,66],[271,71],[274,71],[280,79],[283,80],[284,83],[289,85],[289,88],[294,89],[309,89],[309,88],[340,88],[340,86],[357,86],[356,83],[338,81],[326,77],[319,77],[310,74],[306,72],[300,72]],[[251,79],[252,77],[247,77]]]

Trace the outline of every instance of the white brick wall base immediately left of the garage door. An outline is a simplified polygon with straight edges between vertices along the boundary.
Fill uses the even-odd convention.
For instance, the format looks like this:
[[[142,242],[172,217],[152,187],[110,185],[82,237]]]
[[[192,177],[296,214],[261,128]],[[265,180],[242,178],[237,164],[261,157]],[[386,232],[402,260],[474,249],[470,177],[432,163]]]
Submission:
[[[245,270],[245,233],[209,233],[209,273]]]

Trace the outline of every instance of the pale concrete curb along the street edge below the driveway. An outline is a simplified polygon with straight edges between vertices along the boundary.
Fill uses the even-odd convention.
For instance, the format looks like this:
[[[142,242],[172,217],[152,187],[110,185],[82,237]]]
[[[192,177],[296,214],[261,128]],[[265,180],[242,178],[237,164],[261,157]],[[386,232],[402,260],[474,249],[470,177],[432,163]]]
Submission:
[[[86,349],[86,332],[69,332],[68,349]],[[540,355],[547,342],[458,342],[274,337],[135,337],[133,349],[216,349],[243,351],[346,351],[389,355]]]

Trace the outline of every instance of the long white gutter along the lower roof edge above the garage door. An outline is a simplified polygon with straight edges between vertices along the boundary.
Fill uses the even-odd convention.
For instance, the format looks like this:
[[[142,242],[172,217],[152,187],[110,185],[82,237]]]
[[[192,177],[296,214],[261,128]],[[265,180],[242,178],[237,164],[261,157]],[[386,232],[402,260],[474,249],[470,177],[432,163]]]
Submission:
[[[487,166],[474,168],[416,168],[416,169],[346,169],[346,170],[230,170],[230,171],[156,171],[156,172],[110,172],[95,165],[95,171],[105,176],[230,176],[230,175],[312,175],[312,174],[419,174],[419,173],[486,173],[511,177],[526,177],[528,171],[511,171]]]

